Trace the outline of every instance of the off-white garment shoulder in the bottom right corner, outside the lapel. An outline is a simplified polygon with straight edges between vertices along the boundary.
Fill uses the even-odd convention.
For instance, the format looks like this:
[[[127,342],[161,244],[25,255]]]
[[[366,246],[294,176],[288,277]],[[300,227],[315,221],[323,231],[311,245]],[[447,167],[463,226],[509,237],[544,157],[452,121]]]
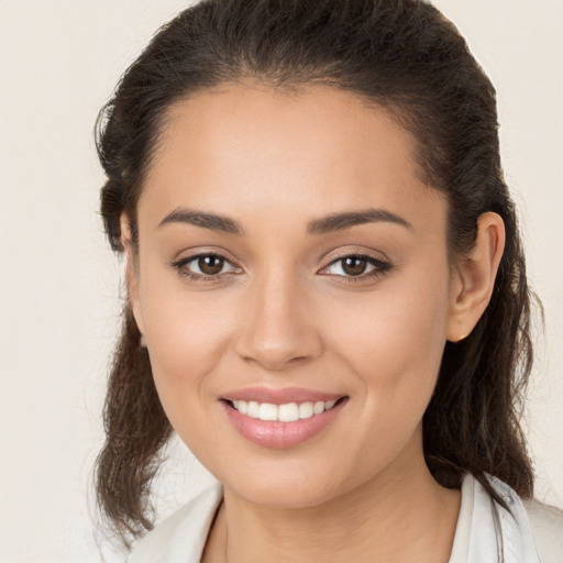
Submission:
[[[563,510],[536,499],[522,500],[542,563],[563,561]]]

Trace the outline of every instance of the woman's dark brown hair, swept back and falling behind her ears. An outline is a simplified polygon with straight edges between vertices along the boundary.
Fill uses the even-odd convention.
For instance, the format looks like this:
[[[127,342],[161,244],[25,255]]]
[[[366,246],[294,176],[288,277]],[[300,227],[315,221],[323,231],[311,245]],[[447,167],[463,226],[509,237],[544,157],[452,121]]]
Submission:
[[[478,217],[500,214],[506,250],[490,303],[463,342],[446,343],[424,413],[428,466],[446,487],[492,474],[528,497],[533,475],[519,417],[531,363],[530,295],[517,219],[500,167],[495,90],[444,16],[417,0],[203,0],[154,36],[98,120],[107,174],[101,212],[121,252],[120,216],[135,207],[170,106],[241,80],[322,84],[385,108],[416,143],[427,181],[449,201],[449,245],[463,256]],[[148,355],[125,309],[97,461],[102,511],[123,536],[151,528],[150,485],[172,429]]]

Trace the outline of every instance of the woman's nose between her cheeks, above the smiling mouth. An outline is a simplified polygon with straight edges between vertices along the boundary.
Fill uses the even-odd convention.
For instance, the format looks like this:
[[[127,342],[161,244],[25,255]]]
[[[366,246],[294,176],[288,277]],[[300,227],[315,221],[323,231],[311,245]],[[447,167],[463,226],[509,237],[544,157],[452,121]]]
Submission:
[[[255,279],[243,303],[240,357],[283,371],[319,356],[322,340],[310,305],[302,284],[288,273],[278,269]]]

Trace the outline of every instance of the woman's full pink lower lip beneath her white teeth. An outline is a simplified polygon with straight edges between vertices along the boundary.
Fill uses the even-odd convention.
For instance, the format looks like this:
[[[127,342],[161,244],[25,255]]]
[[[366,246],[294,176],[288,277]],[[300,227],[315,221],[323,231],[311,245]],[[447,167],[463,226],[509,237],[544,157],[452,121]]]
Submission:
[[[221,401],[227,417],[241,435],[255,444],[273,450],[284,450],[302,444],[324,430],[340,413],[347,399],[329,410],[294,422],[261,420],[242,415],[229,404]]]

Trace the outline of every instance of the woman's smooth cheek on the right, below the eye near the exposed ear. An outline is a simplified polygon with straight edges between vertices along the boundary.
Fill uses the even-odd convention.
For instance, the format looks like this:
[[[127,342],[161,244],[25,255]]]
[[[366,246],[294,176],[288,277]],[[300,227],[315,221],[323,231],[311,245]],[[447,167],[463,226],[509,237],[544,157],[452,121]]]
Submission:
[[[380,452],[400,449],[422,419],[440,369],[449,310],[445,267],[396,279],[364,303],[349,303],[339,317],[343,321],[333,323],[331,343],[362,397],[365,440]]]

